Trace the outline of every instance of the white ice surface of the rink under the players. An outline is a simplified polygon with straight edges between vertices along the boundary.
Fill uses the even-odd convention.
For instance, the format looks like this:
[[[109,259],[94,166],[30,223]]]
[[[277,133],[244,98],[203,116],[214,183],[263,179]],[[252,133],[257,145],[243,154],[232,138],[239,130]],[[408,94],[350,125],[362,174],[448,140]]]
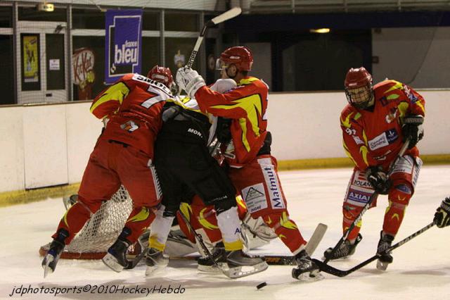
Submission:
[[[328,246],[341,237],[341,207],[352,170],[301,170],[281,172],[281,182],[288,199],[290,216],[307,239],[317,223],[326,223],[328,232],[313,255],[321,258]],[[396,240],[400,240],[431,222],[435,209],[450,195],[450,165],[424,166],[416,194],[406,211]],[[364,239],[347,261],[332,262],[336,268],[350,268],[375,254],[386,196],[378,207],[367,211],[361,234]],[[43,292],[46,288],[82,288],[89,292],[59,294],[57,299],[450,299],[450,227],[431,228],[393,252],[394,263],[386,272],[376,270],[375,262],[347,277],[324,275],[317,282],[299,282],[291,277],[291,266],[269,266],[263,273],[229,280],[224,275],[198,273],[193,261],[171,261],[160,275],[146,278],[145,266],[114,273],[101,261],[66,261],[56,272],[43,278],[39,246],[51,241],[65,208],[61,199],[47,199],[32,204],[0,208],[0,298],[10,298],[20,286]],[[275,241],[259,254],[289,254]],[[257,290],[261,282],[267,286]],[[92,293],[97,285],[96,293]],[[103,287],[100,287],[103,285]],[[183,294],[105,294],[108,286],[179,287]],[[88,289],[88,287],[86,287]],[[99,294],[102,289],[103,294]],[[14,297],[20,295],[13,294]],[[22,299],[55,299],[53,294],[24,294]]]

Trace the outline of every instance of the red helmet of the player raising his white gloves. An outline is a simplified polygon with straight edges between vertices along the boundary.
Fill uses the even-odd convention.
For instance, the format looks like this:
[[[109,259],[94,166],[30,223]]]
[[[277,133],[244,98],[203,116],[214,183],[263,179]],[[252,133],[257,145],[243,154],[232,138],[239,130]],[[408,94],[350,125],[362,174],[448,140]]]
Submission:
[[[226,49],[220,54],[220,58],[217,58],[216,69],[223,70],[229,65],[236,65],[239,71],[250,71],[252,64],[253,54],[250,49],[245,46],[233,46]]]

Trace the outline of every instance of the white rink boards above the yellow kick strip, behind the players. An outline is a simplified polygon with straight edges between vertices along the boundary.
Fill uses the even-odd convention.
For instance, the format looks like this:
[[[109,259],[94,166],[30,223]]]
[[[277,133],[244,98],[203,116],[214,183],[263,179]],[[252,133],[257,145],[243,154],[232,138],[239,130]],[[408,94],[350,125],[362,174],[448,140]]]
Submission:
[[[427,113],[420,153],[450,154],[450,91],[419,92]],[[339,118],[346,104],[343,92],[269,94],[272,154],[278,161],[345,157]],[[0,192],[79,182],[102,127],[89,106],[0,107],[8,121],[0,124]]]

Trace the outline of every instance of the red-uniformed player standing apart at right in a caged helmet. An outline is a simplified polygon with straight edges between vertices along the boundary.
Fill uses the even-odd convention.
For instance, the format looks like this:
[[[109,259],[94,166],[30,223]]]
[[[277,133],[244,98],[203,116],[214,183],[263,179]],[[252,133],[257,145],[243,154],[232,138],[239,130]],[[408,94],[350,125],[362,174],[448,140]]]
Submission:
[[[423,137],[425,100],[408,85],[384,80],[372,86],[372,76],[364,68],[351,68],[345,76],[345,94],[349,104],[340,115],[344,149],[355,164],[342,205],[342,230],[352,225],[372,194],[388,195],[383,230],[377,253],[381,254],[377,268],[385,270],[392,256],[385,249],[391,246],[404,218],[422,161],[416,144]],[[409,139],[397,165],[392,165],[401,146]],[[390,178],[387,173],[394,168]],[[373,206],[376,205],[376,199]],[[335,251],[325,251],[328,259],[354,254],[361,242],[361,222]]]

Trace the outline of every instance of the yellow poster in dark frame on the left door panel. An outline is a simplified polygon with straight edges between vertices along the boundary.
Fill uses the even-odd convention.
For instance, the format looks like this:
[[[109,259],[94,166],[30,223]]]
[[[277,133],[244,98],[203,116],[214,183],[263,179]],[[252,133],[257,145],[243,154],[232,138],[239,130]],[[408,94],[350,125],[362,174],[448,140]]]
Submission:
[[[20,50],[22,61],[22,90],[37,91],[41,89],[39,56],[39,34],[21,34]]]

